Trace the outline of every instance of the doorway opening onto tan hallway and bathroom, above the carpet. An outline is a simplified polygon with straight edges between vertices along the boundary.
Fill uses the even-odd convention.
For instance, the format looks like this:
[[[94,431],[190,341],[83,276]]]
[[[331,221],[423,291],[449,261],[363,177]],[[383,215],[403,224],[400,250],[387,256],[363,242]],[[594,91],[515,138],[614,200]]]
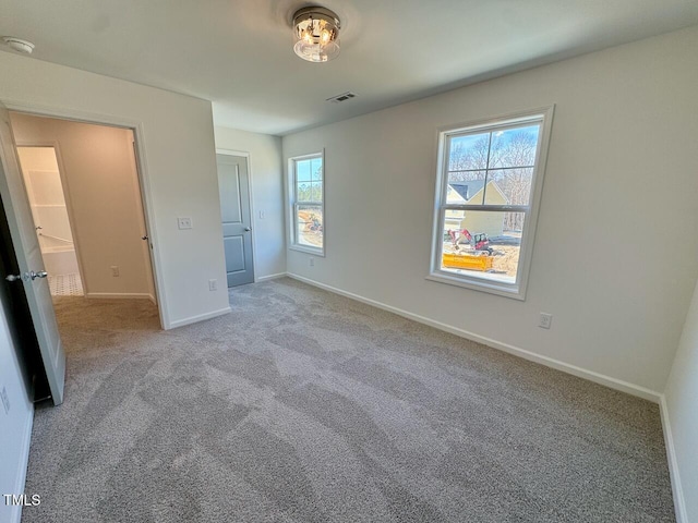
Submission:
[[[53,299],[147,299],[157,307],[133,130],[10,118]]]

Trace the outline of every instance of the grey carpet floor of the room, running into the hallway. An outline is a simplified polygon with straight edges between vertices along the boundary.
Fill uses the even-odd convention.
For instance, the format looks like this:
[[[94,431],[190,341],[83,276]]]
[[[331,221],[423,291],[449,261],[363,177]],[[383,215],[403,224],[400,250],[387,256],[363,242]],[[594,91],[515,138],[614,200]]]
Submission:
[[[290,279],[57,299],[23,522],[671,522],[657,405]]]

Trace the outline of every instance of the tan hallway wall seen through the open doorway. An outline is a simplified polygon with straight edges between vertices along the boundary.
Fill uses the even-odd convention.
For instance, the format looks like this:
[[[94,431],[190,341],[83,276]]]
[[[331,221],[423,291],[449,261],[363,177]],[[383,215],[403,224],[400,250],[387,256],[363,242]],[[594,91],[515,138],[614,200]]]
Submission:
[[[132,131],[16,112],[11,120],[17,145],[55,144],[60,155],[85,294],[155,297]]]

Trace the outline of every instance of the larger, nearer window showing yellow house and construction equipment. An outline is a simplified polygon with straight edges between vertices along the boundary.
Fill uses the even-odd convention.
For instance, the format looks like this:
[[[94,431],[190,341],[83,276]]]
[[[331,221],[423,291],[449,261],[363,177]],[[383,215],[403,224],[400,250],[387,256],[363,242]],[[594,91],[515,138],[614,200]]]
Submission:
[[[552,113],[441,132],[430,279],[525,299]]]

